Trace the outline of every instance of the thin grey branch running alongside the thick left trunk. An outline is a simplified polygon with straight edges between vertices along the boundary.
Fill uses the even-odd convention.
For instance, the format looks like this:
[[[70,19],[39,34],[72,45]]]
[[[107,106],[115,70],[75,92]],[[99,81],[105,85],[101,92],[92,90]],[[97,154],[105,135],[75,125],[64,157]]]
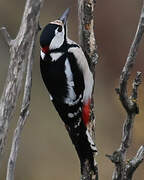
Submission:
[[[34,50],[34,42],[35,41],[33,41],[33,46],[31,46],[30,51]],[[33,60],[34,60],[33,54],[31,54],[31,56],[28,57],[24,96],[23,96],[23,101],[22,101],[20,117],[18,119],[17,127],[13,135],[11,153],[10,153],[10,157],[8,161],[8,167],[7,167],[6,180],[14,180],[14,171],[15,171],[16,159],[17,159],[17,154],[18,154],[18,149],[19,149],[19,144],[20,144],[21,133],[22,133],[25,121],[29,115],[28,108],[30,105],[30,95],[31,95],[31,87],[32,87]]]

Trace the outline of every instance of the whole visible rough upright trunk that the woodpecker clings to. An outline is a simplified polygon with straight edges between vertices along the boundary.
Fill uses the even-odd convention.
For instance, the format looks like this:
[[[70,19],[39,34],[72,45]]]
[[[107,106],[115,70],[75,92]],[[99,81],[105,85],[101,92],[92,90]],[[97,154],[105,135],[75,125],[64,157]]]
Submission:
[[[95,65],[98,60],[96,40],[94,36],[94,0],[78,1],[78,17],[79,17],[79,42],[88,59],[90,69],[95,79]],[[89,123],[89,132],[95,141],[95,116],[94,101],[91,103],[91,122]],[[81,179],[82,180],[98,180],[98,166],[96,160],[94,162],[95,170],[90,168],[88,161],[81,163]]]

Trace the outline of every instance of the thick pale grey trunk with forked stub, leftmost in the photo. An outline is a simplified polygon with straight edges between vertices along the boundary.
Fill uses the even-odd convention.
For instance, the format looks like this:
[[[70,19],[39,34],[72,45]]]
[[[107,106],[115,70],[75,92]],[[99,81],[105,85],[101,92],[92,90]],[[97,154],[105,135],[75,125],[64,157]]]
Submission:
[[[42,2],[43,0],[26,1],[21,26],[14,40],[12,40],[6,28],[1,28],[1,32],[9,46],[10,64],[0,99],[0,161],[9,123],[20,94],[26,63],[32,57]]]

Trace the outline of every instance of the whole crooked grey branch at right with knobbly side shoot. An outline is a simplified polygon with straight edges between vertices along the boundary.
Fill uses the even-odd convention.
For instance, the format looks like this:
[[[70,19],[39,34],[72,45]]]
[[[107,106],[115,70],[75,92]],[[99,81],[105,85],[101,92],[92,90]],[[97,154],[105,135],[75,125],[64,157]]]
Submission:
[[[144,33],[144,4],[141,11],[137,32],[135,34],[126,63],[123,67],[123,70],[120,76],[120,85],[119,85],[119,88],[116,89],[116,92],[119,95],[120,101],[124,109],[126,110],[127,118],[123,125],[122,142],[120,144],[119,149],[117,149],[113,153],[113,155],[107,155],[110,158],[110,160],[115,164],[115,170],[112,177],[113,180],[131,180],[133,172],[138,167],[138,166],[134,166],[133,162],[138,161],[138,164],[140,164],[144,157],[144,153],[139,153],[139,152],[143,152],[143,146],[142,146],[140,150],[138,151],[138,154],[140,154],[141,161],[138,160],[139,155],[137,154],[136,157],[133,158],[133,160],[126,162],[126,152],[130,145],[134,118],[136,114],[139,113],[136,100],[138,97],[137,90],[141,83],[141,72],[137,72],[136,74],[136,78],[133,82],[131,96],[128,96],[128,93],[127,93],[127,83],[131,74],[131,70],[135,64],[137,51],[138,51],[143,33]]]

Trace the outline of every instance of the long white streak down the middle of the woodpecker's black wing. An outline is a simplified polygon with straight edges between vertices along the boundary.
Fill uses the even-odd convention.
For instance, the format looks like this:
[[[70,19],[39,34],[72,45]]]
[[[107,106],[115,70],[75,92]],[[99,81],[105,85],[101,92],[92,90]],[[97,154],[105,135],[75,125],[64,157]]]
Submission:
[[[65,103],[72,105],[74,103],[74,100],[76,99],[76,94],[73,88],[74,87],[73,75],[68,59],[66,59],[65,61],[65,75],[67,78],[67,88],[68,88],[68,95],[65,98]]]

